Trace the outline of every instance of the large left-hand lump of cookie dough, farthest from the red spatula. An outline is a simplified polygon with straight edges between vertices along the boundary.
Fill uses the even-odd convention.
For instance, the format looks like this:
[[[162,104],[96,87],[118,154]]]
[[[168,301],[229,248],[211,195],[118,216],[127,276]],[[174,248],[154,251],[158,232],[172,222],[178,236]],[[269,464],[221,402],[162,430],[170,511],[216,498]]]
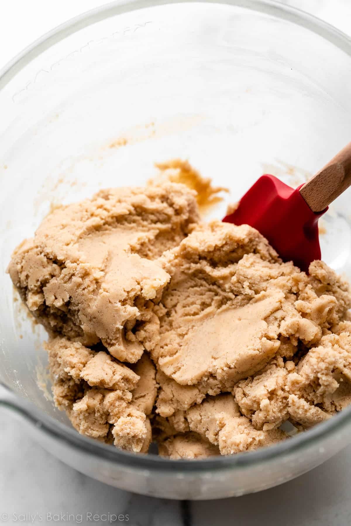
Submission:
[[[157,261],[198,221],[183,185],[99,191],[53,211],[14,252],[9,274],[49,333],[135,363],[169,275]],[[139,331],[139,328],[142,330]]]

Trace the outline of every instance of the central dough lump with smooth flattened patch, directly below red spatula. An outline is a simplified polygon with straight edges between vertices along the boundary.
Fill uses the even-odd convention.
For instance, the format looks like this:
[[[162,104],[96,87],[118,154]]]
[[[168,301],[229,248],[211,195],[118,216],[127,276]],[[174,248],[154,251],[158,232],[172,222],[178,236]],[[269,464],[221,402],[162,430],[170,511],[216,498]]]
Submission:
[[[281,338],[280,353],[291,354],[334,321],[335,295],[318,297],[310,279],[247,225],[199,225],[162,259],[171,280],[155,309],[152,358],[178,385],[229,391],[279,353]]]

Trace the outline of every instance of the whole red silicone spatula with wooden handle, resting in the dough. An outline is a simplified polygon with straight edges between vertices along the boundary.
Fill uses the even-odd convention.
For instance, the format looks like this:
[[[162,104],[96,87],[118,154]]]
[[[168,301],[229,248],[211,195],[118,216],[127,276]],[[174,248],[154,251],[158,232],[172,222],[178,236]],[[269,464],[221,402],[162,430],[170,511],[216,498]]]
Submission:
[[[307,272],[320,259],[318,219],[350,185],[351,143],[296,189],[263,175],[223,221],[256,228],[284,261]]]

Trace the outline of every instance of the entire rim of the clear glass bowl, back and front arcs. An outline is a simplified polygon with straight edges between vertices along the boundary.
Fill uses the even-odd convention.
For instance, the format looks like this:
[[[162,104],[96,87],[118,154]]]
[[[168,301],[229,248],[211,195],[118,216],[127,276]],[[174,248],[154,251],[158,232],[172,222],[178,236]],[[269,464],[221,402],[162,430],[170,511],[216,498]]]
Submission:
[[[210,3],[237,6],[273,15],[305,27],[309,31],[322,36],[351,56],[351,38],[343,32],[313,15],[272,0],[201,0],[200,2],[193,2],[192,0],[117,0],[70,19],[26,47],[0,69],[0,89],[11,82],[11,79],[15,77],[21,69],[46,49],[84,27],[118,14],[136,11],[137,9],[180,3]],[[118,450],[114,447],[107,447],[105,444],[98,443],[93,439],[78,434],[73,428],[49,417],[44,412],[35,408],[33,404],[21,400],[16,396],[15,391],[8,386],[5,385],[4,387],[14,396],[11,396],[9,399],[5,397],[5,399],[0,400],[0,406],[15,411],[29,423],[32,423],[35,427],[40,428],[44,433],[51,436],[54,440],[58,440],[69,447],[84,451],[100,459],[120,465],[123,464],[129,469],[135,470],[173,471],[185,475],[186,473],[248,468],[253,465],[257,466],[258,464],[266,463],[270,460],[277,460],[283,456],[293,455],[296,452],[301,452],[305,448],[317,446],[323,439],[326,439],[336,431],[342,431],[348,424],[351,424],[350,407],[326,422],[318,424],[315,428],[304,433],[299,433],[297,436],[289,438],[275,446],[252,452],[238,453],[233,456],[215,457],[196,461],[170,460],[152,454],[134,454]]]

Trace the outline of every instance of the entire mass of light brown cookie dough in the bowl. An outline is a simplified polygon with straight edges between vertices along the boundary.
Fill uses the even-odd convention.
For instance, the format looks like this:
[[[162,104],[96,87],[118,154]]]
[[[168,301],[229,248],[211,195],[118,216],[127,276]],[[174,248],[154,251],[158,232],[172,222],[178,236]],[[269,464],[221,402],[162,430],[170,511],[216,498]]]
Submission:
[[[200,183],[207,198],[219,190]],[[55,209],[9,274],[49,333],[56,406],[106,444],[146,453],[154,440],[172,459],[241,453],[351,403],[347,282],[322,261],[308,276],[283,263],[247,225],[200,222],[182,184]]]

